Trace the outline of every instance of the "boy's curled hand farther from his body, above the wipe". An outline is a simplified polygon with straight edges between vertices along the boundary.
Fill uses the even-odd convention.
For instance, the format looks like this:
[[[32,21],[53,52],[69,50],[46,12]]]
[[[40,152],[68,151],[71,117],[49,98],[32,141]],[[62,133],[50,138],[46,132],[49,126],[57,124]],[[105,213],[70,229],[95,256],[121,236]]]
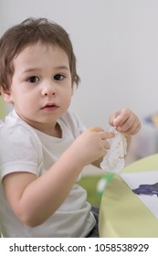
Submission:
[[[141,129],[141,122],[129,109],[121,109],[119,112],[115,112],[110,117],[111,126],[115,126],[116,130],[121,133],[125,133],[126,136],[134,135]]]

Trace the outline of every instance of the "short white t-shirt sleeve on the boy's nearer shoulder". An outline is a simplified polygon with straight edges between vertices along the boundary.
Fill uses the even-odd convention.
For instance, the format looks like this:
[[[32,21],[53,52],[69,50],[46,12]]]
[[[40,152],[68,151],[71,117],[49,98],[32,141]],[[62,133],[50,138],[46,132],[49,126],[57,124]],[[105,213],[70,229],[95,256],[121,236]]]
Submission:
[[[14,172],[38,175],[41,165],[40,144],[36,133],[21,123],[0,127],[0,181]]]

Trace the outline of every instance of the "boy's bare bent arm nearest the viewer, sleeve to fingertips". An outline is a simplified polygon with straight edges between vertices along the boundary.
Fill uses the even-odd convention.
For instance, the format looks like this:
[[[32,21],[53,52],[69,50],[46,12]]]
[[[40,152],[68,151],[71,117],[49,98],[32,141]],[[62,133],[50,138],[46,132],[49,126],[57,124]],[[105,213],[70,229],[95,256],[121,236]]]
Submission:
[[[43,176],[37,177],[29,172],[5,176],[5,195],[18,219],[31,227],[48,219],[68,196],[83,166],[106,155],[107,138],[111,138],[111,133],[88,130]]]

